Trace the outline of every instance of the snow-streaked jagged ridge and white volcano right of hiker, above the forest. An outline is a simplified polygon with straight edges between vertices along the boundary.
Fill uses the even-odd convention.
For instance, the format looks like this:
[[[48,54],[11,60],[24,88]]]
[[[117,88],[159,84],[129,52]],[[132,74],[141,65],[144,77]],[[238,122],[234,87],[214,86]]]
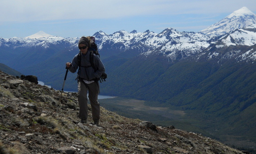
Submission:
[[[102,52],[126,52],[135,50],[145,58],[161,55],[167,57],[169,61],[174,61],[186,59],[193,55],[198,55],[201,52],[205,52],[211,44],[219,42],[219,39],[223,39],[222,37],[217,40],[211,40],[212,38],[232,33],[232,31],[236,29],[246,27],[253,23],[256,23],[256,15],[246,7],[243,7],[199,33],[180,32],[172,28],[167,28],[159,34],[149,30],[144,33],[137,33],[137,31],[129,33],[121,30],[112,35],[107,35],[100,31],[95,33],[94,36]],[[253,32],[249,32],[246,29],[240,29],[236,31],[236,33],[232,33],[232,39],[236,37],[241,38],[236,40],[236,42],[240,42],[240,44],[233,42],[232,45],[252,46],[255,44],[253,41],[254,34],[252,33]],[[226,42],[228,43],[229,40],[226,40]]]

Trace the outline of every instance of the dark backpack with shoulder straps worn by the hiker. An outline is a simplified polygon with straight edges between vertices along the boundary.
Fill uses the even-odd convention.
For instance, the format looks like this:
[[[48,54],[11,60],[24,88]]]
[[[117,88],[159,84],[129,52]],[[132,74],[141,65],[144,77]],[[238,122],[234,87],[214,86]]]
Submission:
[[[87,66],[87,67],[92,67],[94,69],[94,72],[96,72],[97,68],[96,68],[95,64],[93,63],[93,54],[98,55],[99,57],[100,57],[100,54],[98,52],[97,44],[95,43],[95,37],[91,36],[90,39],[91,39],[91,42],[90,42],[91,47],[88,49],[88,51],[90,52],[90,63],[91,63],[91,65]],[[81,66],[81,52],[78,53],[77,58],[78,58],[78,67],[79,67],[79,70],[80,70],[80,67],[85,67],[85,66]],[[100,82],[101,81],[103,82],[103,80],[106,81],[105,80],[106,78],[107,78],[107,74],[103,73],[101,75],[101,77],[99,79],[97,79],[97,81],[100,80]]]

